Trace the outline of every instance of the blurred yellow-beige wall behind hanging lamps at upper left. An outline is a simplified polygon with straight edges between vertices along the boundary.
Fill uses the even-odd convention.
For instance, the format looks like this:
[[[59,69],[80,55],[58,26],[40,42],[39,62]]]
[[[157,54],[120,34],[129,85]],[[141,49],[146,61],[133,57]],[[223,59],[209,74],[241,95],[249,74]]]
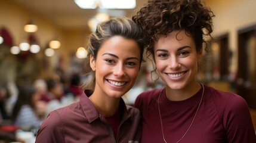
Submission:
[[[38,25],[38,31],[34,33],[36,39],[44,49],[48,42],[52,39],[57,38],[61,42],[60,49],[57,49],[54,57],[48,58],[51,66],[58,62],[58,59],[63,60],[63,68],[67,70],[69,67],[70,54],[76,52],[80,46],[85,46],[85,36],[90,32],[88,31],[68,31],[63,29],[58,29],[54,26],[53,20],[47,19],[39,14],[31,14],[29,10],[26,10],[20,5],[14,4],[10,1],[0,1],[0,28],[5,27],[10,35],[13,37],[14,45],[18,45],[24,39],[27,39],[28,33],[24,32],[23,26],[31,18],[35,24]],[[43,54],[38,54],[39,58],[44,56]],[[45,74],[50,74],[53,69],[45,71]]]

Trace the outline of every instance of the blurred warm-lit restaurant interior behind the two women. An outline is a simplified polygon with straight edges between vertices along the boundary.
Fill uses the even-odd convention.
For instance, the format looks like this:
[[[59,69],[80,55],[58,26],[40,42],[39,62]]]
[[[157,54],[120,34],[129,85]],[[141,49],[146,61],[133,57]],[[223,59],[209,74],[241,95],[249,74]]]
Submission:
[[[76,2],[79,4],[76,0],[0,0],[0,91],[5,91],[0,92],[5,93],[1,94],[0,100],[1,113],[6,119],[12,120],[19,89],[23,85],[41,91],[41,97],[48,92],[57,95],[50,90],[55,84],[62,86],[61,98],[53,97],[61,102],[53,102],[50,108],[45,102],[53,99],[41,98],[39,101],[45,102],[36,104],[38,107],[31,105],[39,110],[41,120],[47,114],[45,111],[77,101],[81,92],[77,87],[86,82],[88,77],[84,74],[90,71],[86,66],[85,50],[88,35],[98,22],[110,17],[131,18],[147,0],[129,0],[127,4],[121,0],[88,1],[91,7],[86,8],[79,7]],[[211,51],[203,55],[198,80],[245,98],[255,122],[256,1],[202,2],[214,11],[212,36],[215,41],[208,44]],[[127,104],[132,105],[141,92],[163,86],[161,80],[154,81],[155,74],[151,78],[152,70],[151,61],[142,64],[137,82],[124,96]],[[5,124],[8,123],[2,122]],[[4,130],[8,129],[17,130],[20,126]],[[29,132],[33,129],[36,130],[35,125],[23,128]]]

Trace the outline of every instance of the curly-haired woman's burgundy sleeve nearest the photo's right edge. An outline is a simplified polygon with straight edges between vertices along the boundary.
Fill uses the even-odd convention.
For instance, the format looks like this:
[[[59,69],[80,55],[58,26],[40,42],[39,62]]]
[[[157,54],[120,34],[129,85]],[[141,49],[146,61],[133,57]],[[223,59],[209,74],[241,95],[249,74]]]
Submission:
[[[227,142],[256,142],[248,104],[239,95],[230,96],[227,100],[223,124],[227,133]]]

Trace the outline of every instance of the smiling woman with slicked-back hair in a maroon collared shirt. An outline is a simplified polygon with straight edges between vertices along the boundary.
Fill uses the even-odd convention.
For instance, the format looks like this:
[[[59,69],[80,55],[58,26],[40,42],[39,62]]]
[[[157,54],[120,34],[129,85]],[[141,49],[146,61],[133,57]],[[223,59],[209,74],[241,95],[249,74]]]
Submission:
[[[138,142],[140,111],[121,97],[137,79],[143,38],[125,17],[98,24],[88,44],[92,80],[84,84],[79,102],[48,115],[36,142]]]

